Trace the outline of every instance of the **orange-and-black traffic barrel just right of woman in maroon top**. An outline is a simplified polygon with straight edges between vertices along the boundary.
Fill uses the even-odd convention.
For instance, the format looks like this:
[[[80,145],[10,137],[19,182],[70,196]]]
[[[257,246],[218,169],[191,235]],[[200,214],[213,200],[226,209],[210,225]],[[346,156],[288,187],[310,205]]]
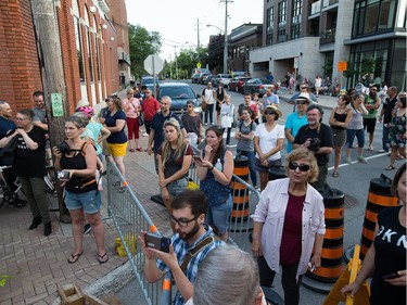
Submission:
[[[329,187],[320,190],[323,196],[326,234],[323,237],[321,266],[307,276],[316,281],[335,282],[343,270],[343,231],[345,195]]]

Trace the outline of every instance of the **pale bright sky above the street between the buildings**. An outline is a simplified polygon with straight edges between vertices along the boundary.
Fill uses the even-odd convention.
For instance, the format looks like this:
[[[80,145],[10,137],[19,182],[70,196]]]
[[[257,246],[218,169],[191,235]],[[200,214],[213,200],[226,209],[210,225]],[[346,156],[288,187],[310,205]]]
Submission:
[[[264,0],[228,2],[228,34],[244,23],[263,24]],[[225,30],[225,2],[220,0],[126,0],[127,22],[140,25],[162,37],[162,60],[174,59],[181,49],[207,47],[211,35]],[[198,26],[199,18],[199,26]],[[188,43],[186,43],[188,41]]]

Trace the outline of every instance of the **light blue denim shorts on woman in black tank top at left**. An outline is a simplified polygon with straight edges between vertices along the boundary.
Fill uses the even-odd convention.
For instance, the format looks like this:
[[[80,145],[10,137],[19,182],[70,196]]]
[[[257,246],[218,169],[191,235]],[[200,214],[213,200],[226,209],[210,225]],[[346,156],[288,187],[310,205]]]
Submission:
[[[67,209],[84,208],[86,214],[96,214],[102,203],[101,193],[98,190],[75,194],[65,190],[65,203]]]

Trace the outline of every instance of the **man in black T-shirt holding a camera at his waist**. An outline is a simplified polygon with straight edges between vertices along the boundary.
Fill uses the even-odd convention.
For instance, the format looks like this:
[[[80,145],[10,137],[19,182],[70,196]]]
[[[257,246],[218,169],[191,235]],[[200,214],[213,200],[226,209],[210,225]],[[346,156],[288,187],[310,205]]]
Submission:
[[[293,149],[304,147],[314,152],[317,158],[319,175],[317,181],[310,183],[317,190],[327,185],[329,155],[332,152],[331,128],[322,123],[323,110],[318,104],[311,104],[307,109],[308,124],[302,126],[295,136]]]

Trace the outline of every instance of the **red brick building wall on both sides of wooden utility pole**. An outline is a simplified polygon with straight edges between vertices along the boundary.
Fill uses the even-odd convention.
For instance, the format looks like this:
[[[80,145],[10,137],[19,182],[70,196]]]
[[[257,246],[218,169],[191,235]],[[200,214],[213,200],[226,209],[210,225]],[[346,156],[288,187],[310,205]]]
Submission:
[[[96,81],[96,100],[92,101],[90,91],[89,63],[85,60],[87,97],[81,97],[79,68],[76,55],[75,28],[72,15],[72,1],[78,2],[80,18],[84,20],[84,10],[88,10],[90,27],[96,22],[98,41],[100,45],[100,74],[102,96]],[[109,5],[125,5],[124,0],[106,1]],[[89,11],[92,0],[56,1],[56,15],[61,37],[61,51],[64,78],[69,111],[73,112],[78,100],[88,100],[96,104],[119,89],[117,62],[117,33],[112,25],[102,18],[101,12],[94,14]],[[114,12],[115,10],[111,11]],[[112,15],[110,16],[112,17]],[[120,16],[115,16],[119,22]],[[94,21],[96,20],[96,21]],[[119,23],[127,23],[127,20]],[[107,28],[102,28],[106,24]],[[82,52],[87,54],[87,36],[81,24]],[[100,33],[102,37],[100,37]],[[97,80],[94,33],[91,34],[91,52],[93,58],[93,74]],[[113,37],[113,39],[111,39]],[[102,51],[103,49],[103,51]],[[33,107],[31,94],[42,90],[40,67],[34,34],[34,25],[29,0],[0,1],[0,100],[7,100],[16,110]]]

